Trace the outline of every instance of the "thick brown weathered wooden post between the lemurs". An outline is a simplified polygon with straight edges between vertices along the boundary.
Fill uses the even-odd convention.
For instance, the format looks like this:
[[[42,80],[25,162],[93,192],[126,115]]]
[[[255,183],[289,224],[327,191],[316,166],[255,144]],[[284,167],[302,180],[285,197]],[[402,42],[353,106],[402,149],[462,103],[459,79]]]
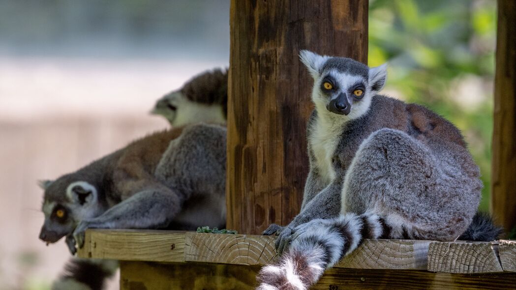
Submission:
[[[299,212],[308,174],[308,49],[367,61],[367,0],[232,0],[227,228],[259,234]]]

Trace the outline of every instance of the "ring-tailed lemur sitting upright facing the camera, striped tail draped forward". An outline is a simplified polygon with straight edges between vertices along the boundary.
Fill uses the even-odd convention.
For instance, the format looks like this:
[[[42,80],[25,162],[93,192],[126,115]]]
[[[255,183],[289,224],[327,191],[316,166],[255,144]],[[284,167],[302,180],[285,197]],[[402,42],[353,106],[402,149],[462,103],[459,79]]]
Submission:
[[[459,130],[425,107],[377,94],[386,66],[301,51],[314,78],[310,173],[301,213],[279,232],[285,251],[260,289],[307,289],[364,238],[454,240],[482,183]],[[339,215],[340,212],[340,215]]]

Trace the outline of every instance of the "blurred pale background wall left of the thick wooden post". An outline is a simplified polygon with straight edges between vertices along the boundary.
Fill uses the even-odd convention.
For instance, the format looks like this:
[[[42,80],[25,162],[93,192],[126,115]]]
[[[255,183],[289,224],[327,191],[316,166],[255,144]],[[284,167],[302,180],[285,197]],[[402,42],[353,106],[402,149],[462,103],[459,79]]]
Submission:
[[[69,257],[38,240],[36,181],[168,127],[154,102],[228,61],[229,1],[0,1],[0,289],[49,288]]]

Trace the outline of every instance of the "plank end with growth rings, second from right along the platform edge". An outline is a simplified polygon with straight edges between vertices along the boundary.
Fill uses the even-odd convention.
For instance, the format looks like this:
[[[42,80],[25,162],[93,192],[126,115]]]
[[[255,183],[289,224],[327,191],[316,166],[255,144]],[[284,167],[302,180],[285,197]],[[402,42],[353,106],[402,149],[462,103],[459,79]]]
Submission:
[[[433,241],[428,248],[428,270],[446,273],[501,272],[494,243]]]

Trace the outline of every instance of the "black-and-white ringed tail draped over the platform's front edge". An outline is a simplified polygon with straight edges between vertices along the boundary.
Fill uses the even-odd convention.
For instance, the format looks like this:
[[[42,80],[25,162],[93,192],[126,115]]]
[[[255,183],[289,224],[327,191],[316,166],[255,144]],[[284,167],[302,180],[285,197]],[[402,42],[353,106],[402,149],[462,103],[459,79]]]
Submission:
[[[385,223],[373,213],[315,219],[295,229],[292,244],[276,265],[263,267],[258,290],[305,290],[326,268],[356,249],[364,238],[378,238]]]

